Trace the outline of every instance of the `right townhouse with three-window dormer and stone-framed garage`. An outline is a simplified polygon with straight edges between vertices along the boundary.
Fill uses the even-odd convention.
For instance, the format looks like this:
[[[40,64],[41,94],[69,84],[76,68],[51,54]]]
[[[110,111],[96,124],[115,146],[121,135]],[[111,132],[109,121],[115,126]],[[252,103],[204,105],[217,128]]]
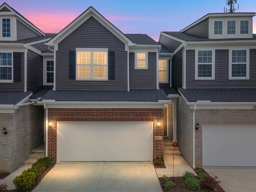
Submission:
[[[159,42],[174,52],[177,140],[192,167],[256,166],[253,16],[207,14],[180,32],[160,34]]]

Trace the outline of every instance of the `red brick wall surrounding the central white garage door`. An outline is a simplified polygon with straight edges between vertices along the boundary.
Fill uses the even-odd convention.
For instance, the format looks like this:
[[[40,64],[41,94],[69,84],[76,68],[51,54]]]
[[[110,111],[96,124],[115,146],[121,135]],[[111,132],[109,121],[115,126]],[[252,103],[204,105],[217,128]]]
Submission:
[[[158,128],[157,121],[161,125]],[[153,158],[164,155],[164,109],[162,108],[49,108],[48,156],[56,162],[57,157],[57,122],[58,121],[149,121],[153,122]],[[155,140],[162,136],[162,140]]]

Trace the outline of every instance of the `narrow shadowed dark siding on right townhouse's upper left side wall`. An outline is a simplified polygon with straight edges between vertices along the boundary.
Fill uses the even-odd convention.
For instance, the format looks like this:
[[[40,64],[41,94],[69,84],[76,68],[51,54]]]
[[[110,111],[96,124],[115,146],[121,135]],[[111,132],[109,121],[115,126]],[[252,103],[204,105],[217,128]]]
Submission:
[[[172,87],[182,87],[182,54],[180,49],[172,58]]]

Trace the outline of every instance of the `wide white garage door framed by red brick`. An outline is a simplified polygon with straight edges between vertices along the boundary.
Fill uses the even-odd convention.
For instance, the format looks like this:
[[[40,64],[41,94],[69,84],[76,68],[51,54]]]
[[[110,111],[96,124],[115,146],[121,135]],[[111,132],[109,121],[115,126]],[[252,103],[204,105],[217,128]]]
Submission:
[[[151,161],[152,122],[58,122],[57,161]]]

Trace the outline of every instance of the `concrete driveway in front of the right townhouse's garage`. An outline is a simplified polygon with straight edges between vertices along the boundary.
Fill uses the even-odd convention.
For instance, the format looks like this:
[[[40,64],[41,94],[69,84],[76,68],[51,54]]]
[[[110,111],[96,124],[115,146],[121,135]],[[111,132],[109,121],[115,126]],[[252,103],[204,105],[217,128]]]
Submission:
[[[204,169],[220,181],[225,192],[252,192],[256,190],[256,169]]]

